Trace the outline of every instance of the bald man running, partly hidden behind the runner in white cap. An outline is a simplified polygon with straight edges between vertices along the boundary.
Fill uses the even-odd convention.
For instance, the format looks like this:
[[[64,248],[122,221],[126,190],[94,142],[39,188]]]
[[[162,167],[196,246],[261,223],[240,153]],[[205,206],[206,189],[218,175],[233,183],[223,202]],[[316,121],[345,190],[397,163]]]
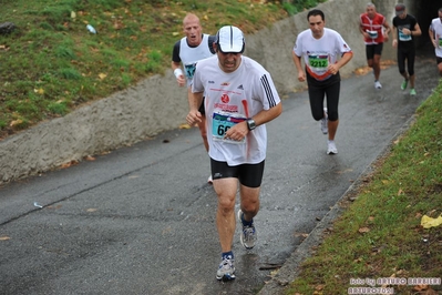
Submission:
[[[215,35],[203,33],[203,28],[198,17],[194,13],[187,13],[183,20],[183,30],[186,37],[178,40],[172,53],[172,70],[176,77],[179,87],[184,87],[187,80],[187,99],[192,96],[192,80],[195,73],[196,63],[199,60],[213,57],[215,50],[213,43]],[[182,64],[184,72],[182,70]],[[204,148],[208,152],[207,131],[205,124],[204,104],[199,106],[202,113],[202,122],[198,122],[201,135],[203,138]],[[212,183],[212,175],[207,180]]]

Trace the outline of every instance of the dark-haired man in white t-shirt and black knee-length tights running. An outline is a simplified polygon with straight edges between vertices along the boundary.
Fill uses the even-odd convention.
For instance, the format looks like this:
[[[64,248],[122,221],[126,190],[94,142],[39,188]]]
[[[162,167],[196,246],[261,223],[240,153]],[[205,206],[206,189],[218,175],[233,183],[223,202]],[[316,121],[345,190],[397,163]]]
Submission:
[[[338,130],[338,102],[340,92],[339,69],[353,57],[351,49],[335,30],[325,28],[323,12],[313,9],[307,14],[310,29],[298,34],[291,52],[298,80],[306,81],[310,99],[311,114],[316,121],[321,120],[321,131],[328,133],[327,154],[336,154],[335,135]],[[306,72],[301,65],[301,57]],[[327,108],[323,99],[327,96]]]

